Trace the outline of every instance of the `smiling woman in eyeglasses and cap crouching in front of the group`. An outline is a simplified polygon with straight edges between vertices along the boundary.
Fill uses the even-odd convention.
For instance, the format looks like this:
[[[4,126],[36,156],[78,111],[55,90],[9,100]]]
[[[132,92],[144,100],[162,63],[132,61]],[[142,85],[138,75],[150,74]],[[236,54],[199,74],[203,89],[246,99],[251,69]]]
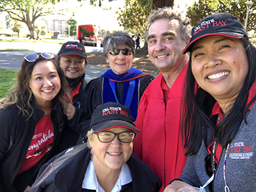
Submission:
[[[30,191],[159,191],[160,178],[133,153],[139,132],[129,107],[111,102],[98,105],[88,142],[47,162]]]

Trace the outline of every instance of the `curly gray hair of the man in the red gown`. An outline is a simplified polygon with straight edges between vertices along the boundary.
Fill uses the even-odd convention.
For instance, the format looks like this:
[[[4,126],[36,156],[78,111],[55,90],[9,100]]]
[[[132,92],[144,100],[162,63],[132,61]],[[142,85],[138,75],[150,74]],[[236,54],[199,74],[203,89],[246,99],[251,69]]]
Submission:
[[[182,36],[182,40],[186,41],[191,36],[191,23],[190,20],[186,17],[182,17],[182,13],[178,12],[177,10],[173,10],[172,8],[158,8],[157,10],[152,10],[151,14],[148,18],[148,30],[146,32],[146,36],[149,35],[149,28],[153,22],[159,19],[170,19],[170,20],[177,20],[180,24],[180,34]]]

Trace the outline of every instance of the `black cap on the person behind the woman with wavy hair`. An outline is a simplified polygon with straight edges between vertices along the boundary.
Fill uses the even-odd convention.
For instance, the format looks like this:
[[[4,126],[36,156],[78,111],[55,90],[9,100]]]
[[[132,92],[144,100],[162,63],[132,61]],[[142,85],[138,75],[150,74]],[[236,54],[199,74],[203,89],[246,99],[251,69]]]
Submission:
[[[58,52],[58,56],[60,57],[73,54],[87,58],[85,47],[76,41],[67,41],[61,46],[61,50]]]

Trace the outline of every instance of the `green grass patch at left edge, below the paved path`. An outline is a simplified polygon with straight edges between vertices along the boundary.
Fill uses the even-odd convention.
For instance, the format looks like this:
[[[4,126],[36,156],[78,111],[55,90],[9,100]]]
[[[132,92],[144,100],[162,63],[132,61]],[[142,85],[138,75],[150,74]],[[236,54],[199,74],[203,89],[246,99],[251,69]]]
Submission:
[[[6,97],[10,87],[16,83],[17,69],[0,68],[0,98]]]

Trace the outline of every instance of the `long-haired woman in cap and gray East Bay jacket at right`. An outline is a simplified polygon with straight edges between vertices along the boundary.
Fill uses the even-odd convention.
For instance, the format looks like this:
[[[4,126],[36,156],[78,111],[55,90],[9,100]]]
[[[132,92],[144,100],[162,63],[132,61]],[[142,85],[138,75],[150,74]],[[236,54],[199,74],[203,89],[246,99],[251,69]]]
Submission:
[[[184,88],[186,165],[165,191],[255,191],[256,51],[242,23],[223,12],[196,25]]]

